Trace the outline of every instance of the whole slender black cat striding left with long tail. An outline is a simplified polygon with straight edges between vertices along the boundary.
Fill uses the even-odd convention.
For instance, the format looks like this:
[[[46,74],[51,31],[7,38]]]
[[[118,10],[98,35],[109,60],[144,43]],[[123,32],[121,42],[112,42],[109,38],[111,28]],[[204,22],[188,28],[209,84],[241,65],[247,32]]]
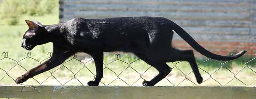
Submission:
[[[213,54],[199,45],[180,26],[163,17],[75,18],[53,25],[42,25],[29,20],[26,23],[29,29],[23,36],[21,46],[32,50],[36,45],[52,42],[53,55],[46,62],[18,77],[15,80],[17,84],[60,65],[76,52],[86,52],[93,57],[97,73],[95,80],[88,82],[88,85],[98,86],[103,78],[103,52],[112,51],[132,52],[159,71],[152,80],[145,80],[143,86],[154,86],[172,70],[166,62],[179,60],[189,62],[197,83],[202,83],[203,78],[193,51],[180,51],[172,47],[172,30],[200,54],[211,59],[233,60],[246,52],[241,51],[231,56]]]

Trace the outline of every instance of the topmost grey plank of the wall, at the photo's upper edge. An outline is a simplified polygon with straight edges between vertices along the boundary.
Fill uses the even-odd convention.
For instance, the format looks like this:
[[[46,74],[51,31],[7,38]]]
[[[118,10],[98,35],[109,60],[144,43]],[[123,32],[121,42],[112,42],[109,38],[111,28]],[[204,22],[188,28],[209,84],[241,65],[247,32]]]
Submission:
[[[69,0],[67,0],[69,1]],[[75,0],[84,4],[249,6],[248,0]]]

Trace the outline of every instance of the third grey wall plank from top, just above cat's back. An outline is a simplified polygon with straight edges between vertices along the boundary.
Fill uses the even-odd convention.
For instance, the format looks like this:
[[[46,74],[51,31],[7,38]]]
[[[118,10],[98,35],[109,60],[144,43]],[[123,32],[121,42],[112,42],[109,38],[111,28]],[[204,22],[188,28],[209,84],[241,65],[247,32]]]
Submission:
[[[200,13],[200,12],[138,12],[138,11],[73,11],[73,17],[125,17],[125,16],[161,16],[183,20],[246,20],[249,21],[249,13]],[[64,10],[64,13],[67,11]]]

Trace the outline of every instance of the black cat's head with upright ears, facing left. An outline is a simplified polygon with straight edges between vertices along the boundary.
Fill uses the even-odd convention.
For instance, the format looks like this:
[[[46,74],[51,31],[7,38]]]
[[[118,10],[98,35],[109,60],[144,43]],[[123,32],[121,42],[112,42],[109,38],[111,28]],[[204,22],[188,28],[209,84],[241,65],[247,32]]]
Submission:
[[[45,27],[37,21],[25,21],[29,26],[29,29],[23,35],[21,47],[26,50],[32,50],[36,45],[47,43],[44,41],[44,34],[47,32]]]

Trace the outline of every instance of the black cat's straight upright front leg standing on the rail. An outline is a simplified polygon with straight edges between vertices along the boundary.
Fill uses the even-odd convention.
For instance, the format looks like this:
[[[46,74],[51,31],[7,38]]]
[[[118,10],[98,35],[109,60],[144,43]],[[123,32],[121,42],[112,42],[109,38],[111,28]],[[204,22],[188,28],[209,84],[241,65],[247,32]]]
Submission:
[[[103,51],[95,52],[91,54],[94,59],[95,67],[96,67],[96,78],[94,81],[88,82],[88,86],[98,86],[99,82],[101,82],[101,78],[103,78]]]

